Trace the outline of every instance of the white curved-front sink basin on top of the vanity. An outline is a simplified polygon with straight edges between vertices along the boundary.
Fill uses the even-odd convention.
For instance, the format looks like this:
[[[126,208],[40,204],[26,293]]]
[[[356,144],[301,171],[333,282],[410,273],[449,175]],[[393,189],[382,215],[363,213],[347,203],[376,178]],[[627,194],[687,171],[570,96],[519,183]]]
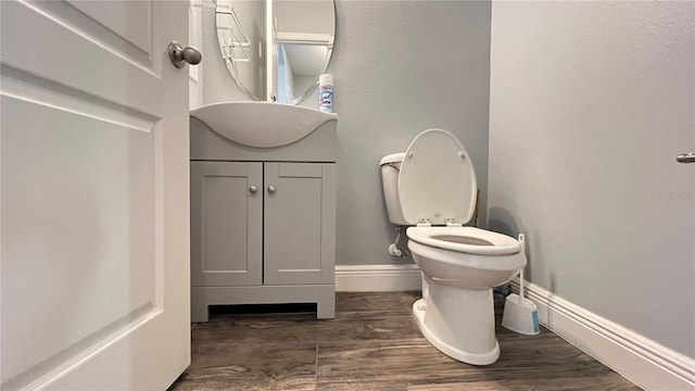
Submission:
[[[303,139],[338,115],[295,105],[225,102],[191,110],[190,115],[219,136],[254,148],[276,148]]]

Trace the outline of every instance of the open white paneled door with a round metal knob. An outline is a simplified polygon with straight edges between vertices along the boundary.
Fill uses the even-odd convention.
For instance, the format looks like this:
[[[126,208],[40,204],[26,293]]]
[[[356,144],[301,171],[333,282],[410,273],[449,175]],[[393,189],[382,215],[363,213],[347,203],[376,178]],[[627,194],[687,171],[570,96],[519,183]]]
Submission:
[[[190,360],[187,2],[0,7],[0,387],[165,389]]]

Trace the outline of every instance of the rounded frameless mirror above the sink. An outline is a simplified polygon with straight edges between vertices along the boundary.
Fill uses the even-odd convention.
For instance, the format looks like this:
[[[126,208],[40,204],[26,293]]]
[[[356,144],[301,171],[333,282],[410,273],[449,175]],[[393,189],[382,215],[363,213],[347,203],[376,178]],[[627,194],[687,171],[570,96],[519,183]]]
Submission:
[[[333,0],[217,0],[219,50],[253,100],[296,104],[326,73],[336,38]]]

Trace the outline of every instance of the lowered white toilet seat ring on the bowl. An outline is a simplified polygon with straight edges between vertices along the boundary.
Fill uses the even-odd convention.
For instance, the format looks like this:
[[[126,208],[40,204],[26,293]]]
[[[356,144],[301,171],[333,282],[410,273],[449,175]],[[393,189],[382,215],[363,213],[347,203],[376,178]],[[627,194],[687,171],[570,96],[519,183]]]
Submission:
[[[518,240],[476,227],[410,227],[410,240],[425,245],[476,255],[510,255],[521,251]]]

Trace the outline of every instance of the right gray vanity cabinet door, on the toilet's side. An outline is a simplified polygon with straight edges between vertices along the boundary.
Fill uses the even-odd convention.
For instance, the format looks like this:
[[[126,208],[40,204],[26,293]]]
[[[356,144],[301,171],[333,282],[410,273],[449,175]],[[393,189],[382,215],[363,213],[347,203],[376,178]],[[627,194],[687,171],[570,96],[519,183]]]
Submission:
[[[264,285],[333,283],[336,164],[265,163]]]

